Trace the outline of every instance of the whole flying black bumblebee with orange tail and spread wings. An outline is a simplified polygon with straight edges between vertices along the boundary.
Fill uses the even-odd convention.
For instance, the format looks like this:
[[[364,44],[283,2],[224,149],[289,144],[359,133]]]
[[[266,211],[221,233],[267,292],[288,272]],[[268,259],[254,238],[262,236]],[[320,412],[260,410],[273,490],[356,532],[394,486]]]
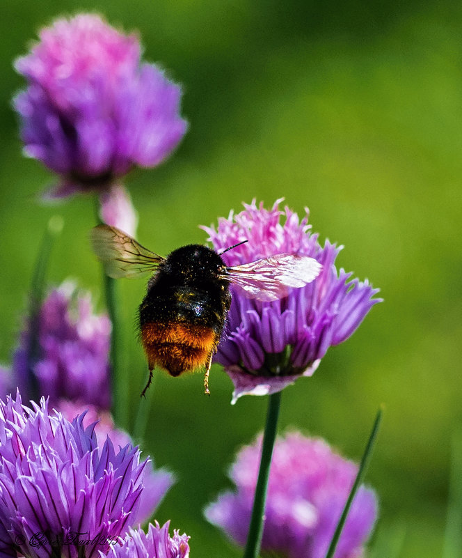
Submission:
[[[278,300],[289,288],[313,281],[321,270],[314,258],[296,254],[227,267],[221,256],[235,246],[218,254],[206,246],[188,245],[163,258],[105,224],[93,228],[92,242],[109,277],[152,275],[138,312],[149,368],[141,396],[156,365],[173,376],[205,366],[204,388],[210,394],[209,371],[230,309],[230,284],[248,298]]]

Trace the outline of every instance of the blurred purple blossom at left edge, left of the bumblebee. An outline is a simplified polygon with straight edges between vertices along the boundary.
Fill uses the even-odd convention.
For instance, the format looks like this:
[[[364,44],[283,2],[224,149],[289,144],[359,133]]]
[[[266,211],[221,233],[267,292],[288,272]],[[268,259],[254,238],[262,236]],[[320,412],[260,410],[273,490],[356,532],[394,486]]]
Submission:
[[[94,313],[89,293],[71,281],[63,283],[40,309],[36,355],[29,354],[29,330],[22,332],[13,358],[13,387],[30,396],[36,383],[53,406],[68,399],[108,409],[110,336],[111,322]]]

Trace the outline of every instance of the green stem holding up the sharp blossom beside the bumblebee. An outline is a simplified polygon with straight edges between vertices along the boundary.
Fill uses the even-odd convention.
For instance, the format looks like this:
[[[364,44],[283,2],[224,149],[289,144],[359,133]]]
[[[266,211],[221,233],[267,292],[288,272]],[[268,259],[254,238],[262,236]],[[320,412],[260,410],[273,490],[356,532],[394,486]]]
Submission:
[[[246,550],[244,558],[258,558],[262,545],[264,527],[264,507],[266,504],[266,490],[268,489],[269,469],[271,457],[273,456],[274,441],[278,429],[278,417],[280,409],[280,398],[282,392],[269,396],[268,414],[264,427],[262,458],[258,472],[257,487],[255,488],[255,499],[253,501],[252,517],[248,529]]]

